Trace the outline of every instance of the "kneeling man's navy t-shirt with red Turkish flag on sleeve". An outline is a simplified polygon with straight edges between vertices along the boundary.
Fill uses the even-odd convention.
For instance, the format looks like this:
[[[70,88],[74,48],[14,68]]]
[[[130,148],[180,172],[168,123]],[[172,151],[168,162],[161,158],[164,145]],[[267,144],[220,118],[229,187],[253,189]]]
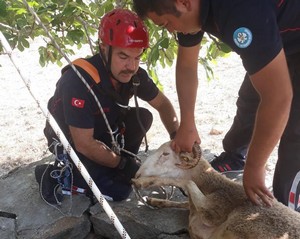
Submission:
[[[100,55],[97,54],[87,60],[97,68],[101,79],[99,86],[102,90],[97,90],[96,83],[84,70],[80,68],[78,70],[90,84],[110,126],[113,127],[118,123],[122,107],[118,106],[116,98],[108,93],[114,91],[114,88]],[[137,96],[144,101],[154,99],[159,92],[157,86],[144,69],[139,68],[137,75],[140,79]],[[118,101],[118,103],[128,105],[129,99],[133,96],[132,79],[130,82],[122,84],[118,96],[121,99],[121,102]],[[77,128],[94,128],[94,138],[98,140],[101,140],[103,134],[108,132],[95,98],[70,67],[64,70],[59,79],[54,96],[48,102],[48,109],[67,137],[69,125]]]

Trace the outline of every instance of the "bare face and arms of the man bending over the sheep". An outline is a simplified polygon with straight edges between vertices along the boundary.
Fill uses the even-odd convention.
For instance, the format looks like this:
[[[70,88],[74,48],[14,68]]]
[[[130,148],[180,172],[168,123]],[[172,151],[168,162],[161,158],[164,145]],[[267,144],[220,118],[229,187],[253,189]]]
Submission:
[[[177,0],[179,17],[148,13],[155,24],[170,32],[194,33],[201,30],[197,15],[199,0]],[[198,16],[198,17],[197,17]],[[197,18],[196,18],[197,17]],[[194,142],[200,143],[195,125],[194,109],[197,95],[197,65],[200,46],[178,47],[176,85],[181,110],[181,123],[172,148],[176,152],[192,151]],[[265,165],[286,126],[293,91],[283,50],[264,68],[250,77],[261,101],[257,110],[255,129],[249,145],[244,171],[244,189],[255,204],[271,206],[273,195],[265,185]]]

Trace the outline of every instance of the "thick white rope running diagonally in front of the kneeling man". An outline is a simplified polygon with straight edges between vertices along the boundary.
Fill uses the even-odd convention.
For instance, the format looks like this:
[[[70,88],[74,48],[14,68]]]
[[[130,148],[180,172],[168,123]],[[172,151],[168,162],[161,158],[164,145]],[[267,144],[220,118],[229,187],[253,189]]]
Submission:
[[[77,154],[73,150],[72,146],[69,144],[68,140],[66,139],[65,135],[63,134],[63,132],[59,128],[57,122],[55,121],[55,119],[53,118],[53,116],[51,115],[51,113],[48,111],[48,109],[46,109],[46,108],[44,108],[44,107],[41,106],[40,101],[33,94],[32,90],[31,90],[31,87],[30,87],[30,84],[31,84],[30,80],[26,80],[26,78],[22,74],[21,70],[17,66],[17,64],[15,62],[15,59],[14,59],[14,57],[12,55],[12,49],[11,49],[11,47],[10,47],[7,39],[5,38],[5,36],[2,34],[2,32],[0,32],[0,42],[1,42],[1,44],[2,44],[2,46],[4,48],[4,50],[5,50],[5,52],[8,54],[8,56],[9,56],[11,62],[13,63],[14,67],[16,68],[16,70],[18,71],[19,75],[21,76],[21,78],[22,78],[24,84],[26,85],[28,91],[30,92],[31,96],[36,101],[38,107],[42,110],[42,113],[44,114],[44,116],[46,117],[47,121],[49,122],[49,124],[53,128],[53,130],[56,133],[57,137],[59,138],[60,142],[63,144],[63,146],[66,149],[67,153],[72,158],[74,164],[78,168],[78,170],[81,173],[81,175],[83,176],[84,180],[87,182],[87,184],[91,188],[93,194],[95,195],[95,197],[99,201],[100,205],[103,207],[103,209],[106,212],[106,214],[108,215],[110,221],[113,223],[113,225],[115,226],[115,228],[117,229],[117,231],[119,232],[119,234],[121,235],[122,238],[124,238],[124,239],[130,238],[129,235],[127,234],[126,230],[124,229],[124,227],[120,223],[119,219],[117,218],[116,214],[113,212],[113,210],[111,209],[110,205],[107,203],[107,201],[105,200],[104,196],[101,194],[101,192],[98,189],[98,187],[96,186],[95,182],[93,181],[93,179],[89,175],[88,171],[86,170],[86,168],[84,167],[84,165],[79,160]],[[76,70],[76,68],[74,70]]]

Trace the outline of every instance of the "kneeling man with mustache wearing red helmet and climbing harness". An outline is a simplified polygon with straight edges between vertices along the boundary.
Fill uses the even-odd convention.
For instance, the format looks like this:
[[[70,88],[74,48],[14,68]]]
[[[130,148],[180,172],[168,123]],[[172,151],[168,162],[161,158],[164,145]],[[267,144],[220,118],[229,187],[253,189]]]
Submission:
[[[100,192],[108,199],[121,201],[129,196],[130,180],[139,168],[132,154],[138,153],[153,120],[149,110],[128,107],[129,99],[134,95],[155,108],[170,137],[174,137],[178,121],[170,101],[139,67],[149,41],[147,29],[137,15],[124,9],[107,13],[101,20],[99,41],[100,54],[73,63],[95,93],[102,110],[70,66],[62,70],[48,109]],[[75,191],[91,193],[71,159],[56,144],[57,137],[48,122],[44,133],[58,163],[36,167],[41,196],[48,203],[59,203],[62,197],[55,190],[58,184],[65,194],[70,194],[72,185],[76,186]],[[112,150],[113,139],[124,150]],[[71,183],[70,178],[73,178]]]

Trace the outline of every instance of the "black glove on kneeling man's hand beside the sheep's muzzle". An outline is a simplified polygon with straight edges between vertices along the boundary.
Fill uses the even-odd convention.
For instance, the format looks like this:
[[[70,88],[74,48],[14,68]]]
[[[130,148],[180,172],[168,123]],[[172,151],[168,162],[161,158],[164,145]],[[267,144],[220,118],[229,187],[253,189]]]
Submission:
[[[120,163],[117,166],[117,170],[124,180],[130,182],[139,170],[140,166],[141,163],[135,157],[122,155]]]

